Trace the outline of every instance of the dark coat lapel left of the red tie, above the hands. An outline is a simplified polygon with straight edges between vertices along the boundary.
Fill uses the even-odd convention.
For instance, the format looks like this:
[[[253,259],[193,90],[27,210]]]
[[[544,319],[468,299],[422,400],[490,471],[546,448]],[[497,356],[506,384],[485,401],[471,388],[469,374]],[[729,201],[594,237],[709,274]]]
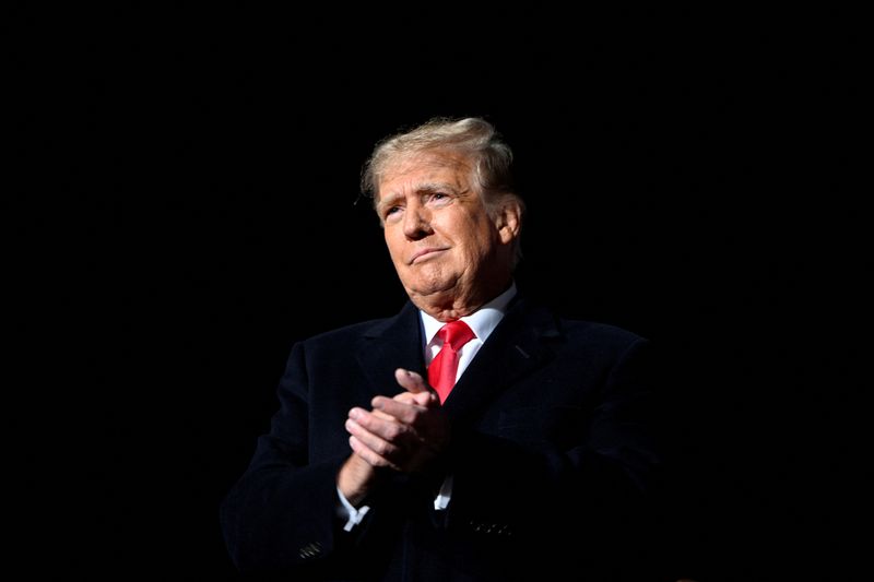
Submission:
[[[356,357],[374,396],[392,396],[402,391],[394,380],[398,368],[425,375],[420,328],[418,310],[408,301],[395,317],[376,323],[364,333]]]

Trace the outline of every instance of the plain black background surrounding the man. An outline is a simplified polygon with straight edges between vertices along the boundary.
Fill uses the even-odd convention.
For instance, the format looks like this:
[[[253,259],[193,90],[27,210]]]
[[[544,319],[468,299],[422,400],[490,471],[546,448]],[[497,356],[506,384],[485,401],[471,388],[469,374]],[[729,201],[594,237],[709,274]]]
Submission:
[[[520,287],[681,363],[689,574],[846,567],[855,14],[9,11],[26,568],[233,579],[217,506],[293,342],[405,298],[362,164],[437,115],[513,145]]]

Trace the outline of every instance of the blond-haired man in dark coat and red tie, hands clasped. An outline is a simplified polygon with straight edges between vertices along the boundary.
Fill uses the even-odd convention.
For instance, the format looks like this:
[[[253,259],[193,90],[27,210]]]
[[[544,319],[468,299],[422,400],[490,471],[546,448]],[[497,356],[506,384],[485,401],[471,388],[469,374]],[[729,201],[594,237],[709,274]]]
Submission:
[[[663,579],[649,343],[517,289],[511,161],[477,118],[375,149],[364,188],[410,302],[292,348],[270,432],[222,507],[241,571]]]

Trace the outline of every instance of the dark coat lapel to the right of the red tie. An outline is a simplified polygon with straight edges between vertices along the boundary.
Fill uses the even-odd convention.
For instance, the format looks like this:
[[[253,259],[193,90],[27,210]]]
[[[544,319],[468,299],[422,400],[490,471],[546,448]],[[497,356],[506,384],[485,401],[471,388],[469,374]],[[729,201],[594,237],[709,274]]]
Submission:
[[[500,392],[548,361],[551,340],[559,336],[552,314],[515,301],[444,403],[456,421],[470,421]]]

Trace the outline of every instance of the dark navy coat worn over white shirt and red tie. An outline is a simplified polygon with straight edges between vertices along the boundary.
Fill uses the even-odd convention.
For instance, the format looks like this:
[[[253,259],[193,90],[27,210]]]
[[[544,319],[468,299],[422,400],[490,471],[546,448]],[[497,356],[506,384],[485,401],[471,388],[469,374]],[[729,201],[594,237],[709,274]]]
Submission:
[[[243,571],[287,580],[662,580],[649,342],[513,301],[444,404],[453,446],[390,473],[356,528],[335,515],[353,406],[424,373],[418,314],[296,344],[281,407],[222,507]],[[446,511],[433,500],[454,476]],[[295,574],[295,575],[290,575]]]

